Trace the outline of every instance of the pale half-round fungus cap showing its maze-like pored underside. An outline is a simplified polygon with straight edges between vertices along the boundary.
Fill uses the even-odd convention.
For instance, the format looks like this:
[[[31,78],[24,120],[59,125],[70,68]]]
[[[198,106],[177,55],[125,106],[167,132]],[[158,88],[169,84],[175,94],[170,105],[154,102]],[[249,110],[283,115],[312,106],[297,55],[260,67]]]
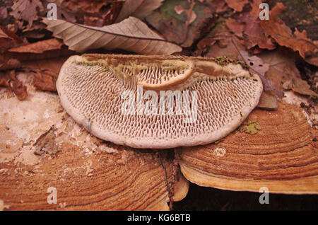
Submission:
[[[163,115],[124,115],[124,91],[134,93],[136,110],[153,100],[143,98],[140,106],[138,85],[143,88],[142,95],[146,91],[158,96],[160,91],[180,91],[182,95],[189,91],[192,114],[184,113],[182,98],[182,113],[178,115],[175,97],[172,115],[167,113],[167,103]],[[240,64],[220,65],[215,59],[83,54],[64,63],[57,91],[66,112],[96,137],[135,148],[167,149],[225,137],[257,106],[262,84],[259,76]],[[160,105],[159,97],[153,102]]]

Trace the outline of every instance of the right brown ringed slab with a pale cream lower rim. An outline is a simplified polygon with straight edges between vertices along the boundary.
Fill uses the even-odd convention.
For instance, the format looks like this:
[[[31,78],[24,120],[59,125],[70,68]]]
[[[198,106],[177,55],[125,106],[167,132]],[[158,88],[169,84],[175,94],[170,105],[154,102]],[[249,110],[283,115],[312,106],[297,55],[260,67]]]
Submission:
[[[318,193],[317,129],[300,107],[281,102],[278,110],[255,109],[247,118],[260,130],[242,125],[217,144],[178,150],[184,177],[224,190],[285,194]],[[248,127],[247,127],[248,128]],[[241,130],[241,132],[240,132]]]

